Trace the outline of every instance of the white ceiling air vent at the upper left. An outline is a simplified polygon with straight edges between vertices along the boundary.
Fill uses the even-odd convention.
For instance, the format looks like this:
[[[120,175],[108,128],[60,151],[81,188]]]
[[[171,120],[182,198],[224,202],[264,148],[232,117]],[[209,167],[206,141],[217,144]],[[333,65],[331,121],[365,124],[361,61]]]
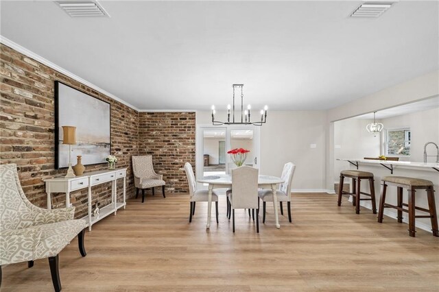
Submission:
[[[110,17],[104,8],[94,0],[56,1],[71,17]]]

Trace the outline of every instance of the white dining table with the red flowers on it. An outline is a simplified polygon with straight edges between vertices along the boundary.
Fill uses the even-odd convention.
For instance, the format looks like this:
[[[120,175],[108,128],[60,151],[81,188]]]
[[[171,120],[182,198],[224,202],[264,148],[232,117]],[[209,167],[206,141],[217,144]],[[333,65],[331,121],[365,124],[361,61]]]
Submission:
[[[211,227],[211,210],[212,210],[212,190],[214,188],[231,188],[232,187],[232,175],[219,174],[219,175],[207,175],[199,178],[197,182],[201,184],[209,184],[209,201],[207,203],[207,224],[206,228]],[[285,180],[272,175],[259,175],[258,187],[259,188],[271,188],[273,191],[273,206],[274,206],[274,218],[276,219],[276,228],[281,228],[279,224],[278,210],[277,210],[277,195],[276,186],[281,184]]]

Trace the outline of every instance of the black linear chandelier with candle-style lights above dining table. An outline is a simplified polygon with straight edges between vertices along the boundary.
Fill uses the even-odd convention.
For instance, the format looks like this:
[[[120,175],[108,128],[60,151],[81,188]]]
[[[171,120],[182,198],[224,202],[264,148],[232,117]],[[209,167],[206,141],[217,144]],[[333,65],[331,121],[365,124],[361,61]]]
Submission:
[[[268,106],[265,106],[261,110],[261,120],[260,121],[250,121],[250,104],[247,106],[247,110],[244,110],[244,84],[233,84],[233,107],[230,104],[227,105],[227,121],[215,121],[215,106],[212,106],[212,125],[259,125],[267,121],[267,110]],[[235,90],[241,89],[241,119],[235,120]],[[230,121],[230,110],[232,110],[232,119]]]

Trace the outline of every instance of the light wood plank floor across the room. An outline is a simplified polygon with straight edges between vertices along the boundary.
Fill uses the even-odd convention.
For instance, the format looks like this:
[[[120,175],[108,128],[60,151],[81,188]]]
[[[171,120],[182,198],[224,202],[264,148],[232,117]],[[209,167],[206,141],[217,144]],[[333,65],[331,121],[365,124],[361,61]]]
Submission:
[[[188,222],[188,195],[132,199],[60,253],[62,291],[439,291],[439,239],[370,210],[355,215],[336,196],[297,194],[293,223],[272,208],[261,233],[244,210],[236,232],[219,202],[206,231],[206,203]],[[271,206],[270,206],[271,207]],[[285,215],[287,213],[285,212]],[[3,268],[2,291],[52,291],[47,259]]]

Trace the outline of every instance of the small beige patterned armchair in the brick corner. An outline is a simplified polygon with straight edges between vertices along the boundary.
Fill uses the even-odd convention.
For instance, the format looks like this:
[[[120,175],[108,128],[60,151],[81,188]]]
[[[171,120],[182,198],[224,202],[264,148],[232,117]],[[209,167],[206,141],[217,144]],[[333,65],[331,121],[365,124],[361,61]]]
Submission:
[[[163,197],[165,195],[165,181],[163,174],[157,174],[152,165],[152,156],[132,156],[132,172],[134,173],[134,186],[136,187],[136,199],[139,196],[139,188],[142,190],[142,203],[145,202],[145,189],[152,188],[154,195],[154,187],[162,186]]]

